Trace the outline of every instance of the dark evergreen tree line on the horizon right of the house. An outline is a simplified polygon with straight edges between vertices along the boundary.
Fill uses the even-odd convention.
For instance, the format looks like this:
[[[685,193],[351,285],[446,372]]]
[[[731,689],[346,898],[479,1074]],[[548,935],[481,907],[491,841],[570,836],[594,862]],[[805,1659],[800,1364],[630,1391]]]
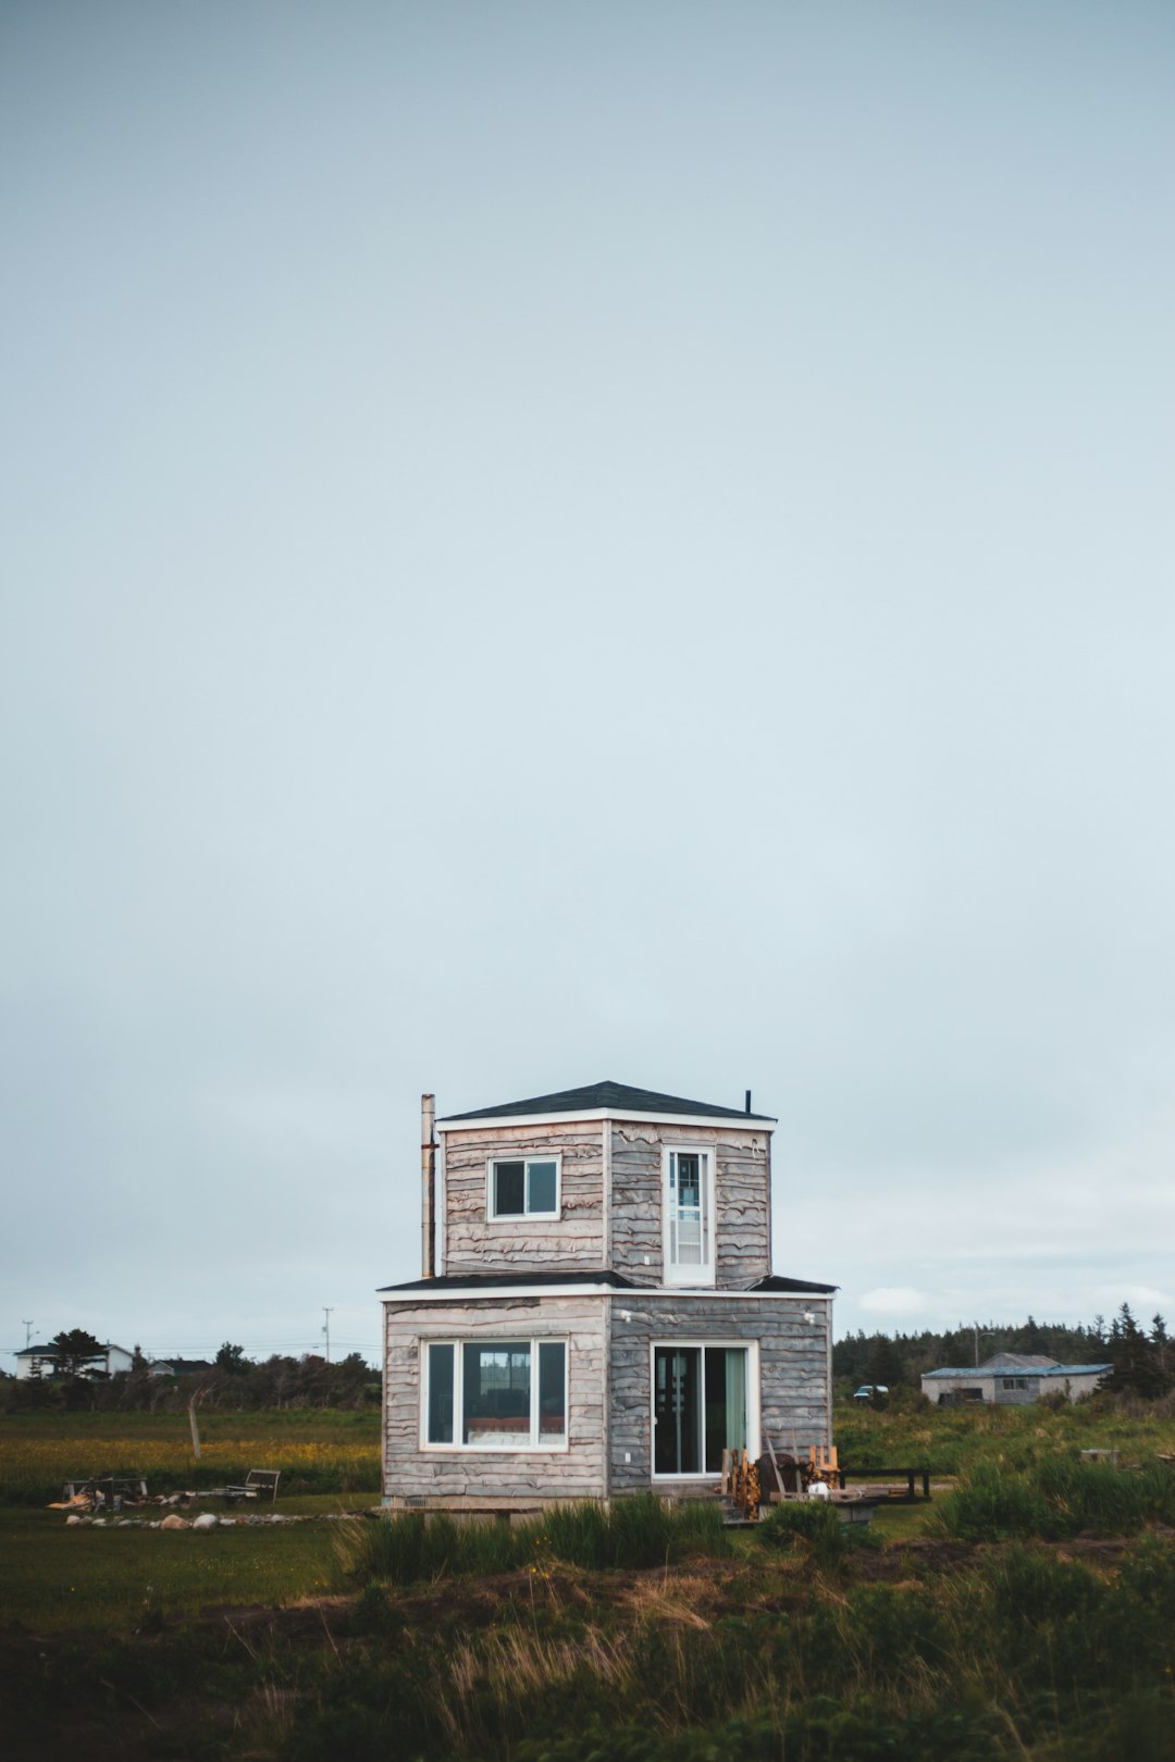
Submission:
[[[983,1364],[999,1351],[1038,1353],[1060,1364],[1110,1364],[1112,1374],[1103,1383],[1113,1394],[1134,1394],[1156,1399],[1175,1387],[1175,1348],[1168,1339],[1166,1322],[1152,1316],[1150,1327],[1142,1325],[1122,1304],[1106,1323],[1094,1316],[1089,1327],[1071,1327],[1064,1322],[1036,1322],[1032,1316],[1018,1325],[987,1322],[958,1325],[946,1332],[930,1329],[920,1334],[846,1334],[833,1346],[833,1376],[851,1381],[900,1388],[918,1388],[927,1371],[942,1366],[967,1369]]]

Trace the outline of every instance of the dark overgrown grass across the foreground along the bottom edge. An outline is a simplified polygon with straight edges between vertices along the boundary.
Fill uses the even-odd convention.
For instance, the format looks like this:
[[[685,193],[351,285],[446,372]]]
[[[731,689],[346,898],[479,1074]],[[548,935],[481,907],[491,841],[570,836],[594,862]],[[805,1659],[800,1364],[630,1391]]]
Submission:
[[[1173,1626],[1161,1536],[1117,1570],[1011,1545],[860,1582],[765,1549],[613,1595],[373,1586],[287,1633],[164,1623],[21,1658],[5,1737],[39,1762],[62,1721],[69,1753],[100,1734],[185,1762],[1170,1762]]]

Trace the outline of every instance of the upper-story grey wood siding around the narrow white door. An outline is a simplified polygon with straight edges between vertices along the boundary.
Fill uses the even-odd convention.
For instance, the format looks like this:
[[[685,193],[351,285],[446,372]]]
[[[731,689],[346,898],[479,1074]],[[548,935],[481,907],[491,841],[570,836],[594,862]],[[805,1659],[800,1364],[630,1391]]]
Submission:
[[[611,1265],[638,1284],[661,1284],[662,1149],[712,1145],[715,1154],[715,1284],[747,1290],[772,1270],[770,1133],[611,1122]]]

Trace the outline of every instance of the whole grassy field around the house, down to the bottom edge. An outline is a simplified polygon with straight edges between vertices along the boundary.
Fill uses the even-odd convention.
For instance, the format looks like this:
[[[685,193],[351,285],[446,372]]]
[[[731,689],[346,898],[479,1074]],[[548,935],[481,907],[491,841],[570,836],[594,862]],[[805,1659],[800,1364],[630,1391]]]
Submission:
[[[187,1417],[5,1420],[5,1751],[1175,1762],[1175,1473],[1156,1461],[1173,1431],[1164,1404],[849,1410],[844,1459],[925,1461],[957,1491],[883,1508],[868,1535],[817,1507],[733,1538],[632,1507],[425,1542],[410,1517],[65,1528],[32,1508],[37,1487],[118,1470],[190,1485]],[[280,1466],[280,1512],[373,1503],[370,1415],[213,1413],[201,1433],[217,1480]],[[1087,1447],[1143,1466],[1087,1468]],[[315,1477],[335,1491],[294,1491]]]

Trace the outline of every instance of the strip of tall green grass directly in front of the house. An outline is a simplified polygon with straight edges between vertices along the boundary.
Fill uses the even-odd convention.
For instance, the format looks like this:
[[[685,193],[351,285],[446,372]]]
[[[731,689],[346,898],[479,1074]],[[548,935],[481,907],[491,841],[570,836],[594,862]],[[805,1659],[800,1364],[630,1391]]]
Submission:
[[[520,1568],[537,1572],[553,1561],[588,1572],[664,1566],[728,1552],[717,1505],[668,1507],[652,1492],[617,1499],[611,1507],[590,1499],[553,1507],[544,1517],[516,1526],[454,1522],[446,1512],[396,1512],[338,1526],[342,1570],[361,1584],[428,1584]]]

